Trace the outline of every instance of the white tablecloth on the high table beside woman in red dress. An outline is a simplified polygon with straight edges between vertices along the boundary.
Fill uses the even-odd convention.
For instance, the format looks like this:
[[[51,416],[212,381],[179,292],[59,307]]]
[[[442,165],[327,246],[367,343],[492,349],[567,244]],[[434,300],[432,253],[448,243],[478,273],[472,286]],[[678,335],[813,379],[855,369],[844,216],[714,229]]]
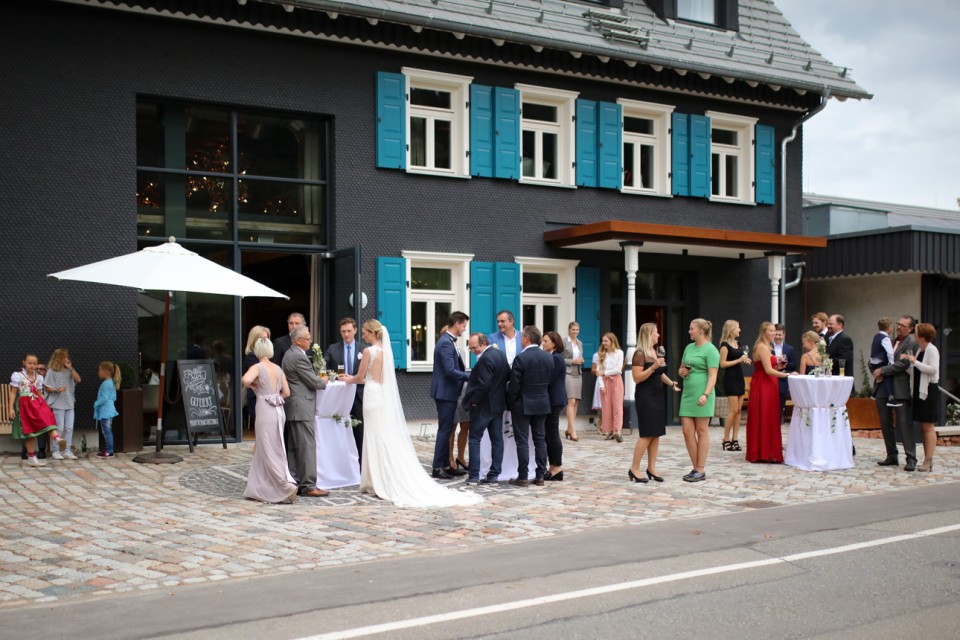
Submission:
[[[794,406],[784,462],[805,471],[852,469],[846,405],[853,378],[790,376],[787,384]]]

